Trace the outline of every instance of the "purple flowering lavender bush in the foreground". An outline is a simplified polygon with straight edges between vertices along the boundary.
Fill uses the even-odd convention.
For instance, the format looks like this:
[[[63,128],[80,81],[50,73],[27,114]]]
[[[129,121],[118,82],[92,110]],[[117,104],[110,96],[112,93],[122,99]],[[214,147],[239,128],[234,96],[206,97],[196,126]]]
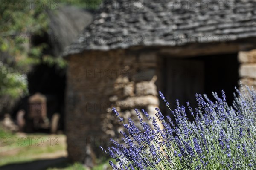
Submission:
[[[256,169],[256,91],[236,89],[233,106],[213,93],[215,102],[196,94],[198,107],[180,106],[172,110],[161,92],[160,97],[170,110],[164,118],[156,108],[156,116],[143,115],[135,109],[141,128],[131,118],[123,123],[123,144],[111,139],[113,147],[102,150],[118,162],[109,161],[113,170],[255,170]],[[194,121],[189,121],[191,114]],[[147,118],[151,124],[143,120]],[[157,123],[161,122],[160,124]]]

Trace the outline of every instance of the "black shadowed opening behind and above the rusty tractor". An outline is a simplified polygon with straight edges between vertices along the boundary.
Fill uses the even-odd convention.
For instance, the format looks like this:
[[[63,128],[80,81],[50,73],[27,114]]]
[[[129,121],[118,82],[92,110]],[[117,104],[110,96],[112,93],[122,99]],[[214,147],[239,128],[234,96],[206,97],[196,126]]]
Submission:
[[[29,93],[40,92],[47,97],[47,115],[51,119],[54,113],[60,114],[58,129],[64,129],[64,96],[66,70],[57,65],[41,64],[35,66],[28,75]]]

